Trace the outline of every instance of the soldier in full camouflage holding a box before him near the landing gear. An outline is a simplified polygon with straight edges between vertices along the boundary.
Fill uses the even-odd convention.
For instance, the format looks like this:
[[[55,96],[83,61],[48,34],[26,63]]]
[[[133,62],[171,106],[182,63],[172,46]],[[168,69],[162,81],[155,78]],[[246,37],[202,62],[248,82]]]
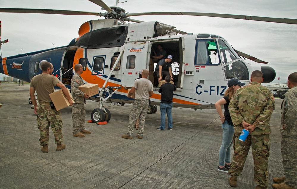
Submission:
[[[86,116],[86,110],[84,108],[84,103],[86,103],[85,98],[89,98],[87,93],[81,92],[78,86],[84,84],[81,74],[84,69],[81,64],[76,64],[74,66],[75,74],[71,79],[71,95],[75,103],[72,105],[72,136],[75,137],[85,137],[84,134],[91,134],[90,131],[85,130],[84,120]]]

